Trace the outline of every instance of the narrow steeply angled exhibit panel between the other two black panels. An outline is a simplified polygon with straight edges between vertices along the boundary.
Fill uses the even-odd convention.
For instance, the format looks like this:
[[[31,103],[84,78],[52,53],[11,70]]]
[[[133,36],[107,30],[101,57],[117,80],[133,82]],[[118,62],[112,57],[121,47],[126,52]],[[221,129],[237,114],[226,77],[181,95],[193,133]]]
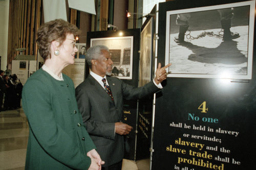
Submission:
[[[141,27],[139,86],[143,86],[155,78],[156,9],[155,5],[150,14],[145,16],[146,20]],[[153,100],[153,94],[139,99],[136,160],[151,156]]]

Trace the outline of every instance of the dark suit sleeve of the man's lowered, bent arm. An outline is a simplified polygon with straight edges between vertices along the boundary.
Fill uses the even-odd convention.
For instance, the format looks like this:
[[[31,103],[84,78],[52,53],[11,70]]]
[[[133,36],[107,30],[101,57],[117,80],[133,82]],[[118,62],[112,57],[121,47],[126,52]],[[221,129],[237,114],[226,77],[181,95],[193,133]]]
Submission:
[[[90,96],[88,96],[88,93],[85,91],[85,87],[78,86],[76,88],[76,100],[88,133],[94,136],[115,139],[115,123],[98,122],[92,117]]]

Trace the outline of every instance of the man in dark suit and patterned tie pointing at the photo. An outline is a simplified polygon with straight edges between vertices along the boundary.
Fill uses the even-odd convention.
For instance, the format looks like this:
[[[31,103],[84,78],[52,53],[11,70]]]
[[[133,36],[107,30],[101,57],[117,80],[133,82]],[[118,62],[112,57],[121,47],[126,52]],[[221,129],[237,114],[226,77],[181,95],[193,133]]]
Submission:
[[[121,122],[123,98],[138,99],[160,90],[160,83],[166,79],[165,68],[170,64],[161,68],[159,63],[154,82],[136,88],[116,77],[106,76],[111,75],[113,64],[108,47],[90,47],[86,61],[91,70],[88,78],[76,88],[78,108],[99,155],[105,161],[102,169],[121,169],[123,135],[132,130],[131,126]]]

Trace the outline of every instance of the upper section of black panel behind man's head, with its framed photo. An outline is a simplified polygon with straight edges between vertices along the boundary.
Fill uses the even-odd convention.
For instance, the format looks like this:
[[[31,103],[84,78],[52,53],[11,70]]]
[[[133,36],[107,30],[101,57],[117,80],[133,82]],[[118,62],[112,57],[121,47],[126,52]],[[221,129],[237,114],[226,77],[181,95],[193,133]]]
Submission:
[[[87,37],[87,48],[93,45],[109,48],[113,61],[112,76],[138,86],[140,29],[88,32]],[[86,77],[88,74],[89,67],[86,69]]]

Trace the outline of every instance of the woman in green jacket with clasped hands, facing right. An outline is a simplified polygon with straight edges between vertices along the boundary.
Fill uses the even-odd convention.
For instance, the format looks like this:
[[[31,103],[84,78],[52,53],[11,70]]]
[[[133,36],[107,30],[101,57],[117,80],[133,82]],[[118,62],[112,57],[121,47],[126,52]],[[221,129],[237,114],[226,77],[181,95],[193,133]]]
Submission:
[[[22,104],[29,123],[25,169],[101,169],[96,147],[83,126],[73,81],[61,71],[74,64],[80,31],[62,19],[37,31],[45,64],[26,82]]]

